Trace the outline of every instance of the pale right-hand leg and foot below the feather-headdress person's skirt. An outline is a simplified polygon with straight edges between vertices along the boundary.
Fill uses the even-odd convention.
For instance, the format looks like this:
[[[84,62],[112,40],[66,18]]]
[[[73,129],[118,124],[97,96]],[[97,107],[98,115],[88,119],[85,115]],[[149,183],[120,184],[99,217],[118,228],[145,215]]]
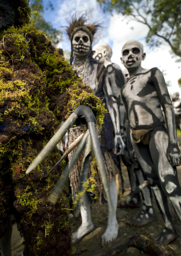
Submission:
[[[108,225],[107,225],[107,229],[102,235],[102,246],[104,246],[105,244],[109,244],[113,240],[117,239],[117,236],[118,236],[119,225],[116,219],[118,192],[117,192],[115,177],[113,177],[112,182],[110,184],[110,194],[113,202],[114,211],[109,209],[109,206],[108,206]]]

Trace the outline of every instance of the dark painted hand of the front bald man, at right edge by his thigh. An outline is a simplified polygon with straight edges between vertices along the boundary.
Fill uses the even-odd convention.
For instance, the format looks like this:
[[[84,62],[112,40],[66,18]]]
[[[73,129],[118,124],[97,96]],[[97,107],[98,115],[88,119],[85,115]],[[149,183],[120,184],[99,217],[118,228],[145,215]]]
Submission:
[[[177,144],[169,144],[166,154],[173,167],[181,165],[181,152]]]

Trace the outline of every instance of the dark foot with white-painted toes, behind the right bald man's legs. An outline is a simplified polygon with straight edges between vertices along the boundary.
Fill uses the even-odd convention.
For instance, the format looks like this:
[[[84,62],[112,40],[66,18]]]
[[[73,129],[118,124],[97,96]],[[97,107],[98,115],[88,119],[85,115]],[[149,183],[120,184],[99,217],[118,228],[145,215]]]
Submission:
[[[133,219],[128,220],[127,223],[130,226],[142,227],[156,219],[156,217],[156,211],[152,207],[147,206],[146,210],[142,210],[140,214],[133,217]]]

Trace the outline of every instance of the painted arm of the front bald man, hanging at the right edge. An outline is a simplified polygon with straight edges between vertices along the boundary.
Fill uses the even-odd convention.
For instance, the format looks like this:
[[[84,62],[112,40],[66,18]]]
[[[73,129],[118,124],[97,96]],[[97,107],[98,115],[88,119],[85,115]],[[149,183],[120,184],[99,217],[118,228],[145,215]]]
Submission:
[[[179,166],[181,164],[181,152],[177,143],[174,108],[172,106],[164,77],[160,70],[156,70],[155,74],[152,75],[152,80],[165,114],[165,121],[169,135],[167,158],[172,166]]]

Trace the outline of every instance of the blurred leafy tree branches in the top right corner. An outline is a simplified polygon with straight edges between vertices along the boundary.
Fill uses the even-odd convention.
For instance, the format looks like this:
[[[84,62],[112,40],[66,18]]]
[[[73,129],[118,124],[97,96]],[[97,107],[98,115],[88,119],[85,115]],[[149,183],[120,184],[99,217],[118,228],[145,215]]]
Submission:
[[[181,57],[181,0],[97,0],[104,12],[132,17],[148,26],[146,42],[159,46],[167,42]]]

